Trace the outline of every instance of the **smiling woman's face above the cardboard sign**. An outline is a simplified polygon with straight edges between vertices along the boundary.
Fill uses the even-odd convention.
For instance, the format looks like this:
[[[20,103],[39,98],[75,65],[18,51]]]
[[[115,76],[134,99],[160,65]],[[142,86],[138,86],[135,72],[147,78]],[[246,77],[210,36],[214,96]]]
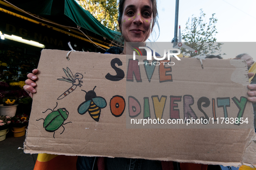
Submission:
[[[150,0],[125,0],[120,22],[125,42],[146,42],[151,33],[152,3]]]

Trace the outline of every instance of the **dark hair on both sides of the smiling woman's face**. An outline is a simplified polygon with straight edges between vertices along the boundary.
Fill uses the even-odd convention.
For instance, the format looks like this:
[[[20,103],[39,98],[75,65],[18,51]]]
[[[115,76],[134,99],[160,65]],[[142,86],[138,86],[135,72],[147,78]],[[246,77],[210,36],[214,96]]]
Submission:
[[[153,15],[153,22],[152,22],[152,29],[155,26],[155,24],[158,26],[159,29],[159,23],[157,21],[158,18],[158,12],[157,12],[157,5],[156,5],[156,0],[150,0],[152,2],[152,15]],[[125,0],[120,0],[119,1],[119,15],[118,15],[118,25],[119,25],[119,29],[121,31],[121,20],[122,20],[122,16],[123,16],[123,4],[124,4]],[[121,31],[122,32],[122,31]]]

